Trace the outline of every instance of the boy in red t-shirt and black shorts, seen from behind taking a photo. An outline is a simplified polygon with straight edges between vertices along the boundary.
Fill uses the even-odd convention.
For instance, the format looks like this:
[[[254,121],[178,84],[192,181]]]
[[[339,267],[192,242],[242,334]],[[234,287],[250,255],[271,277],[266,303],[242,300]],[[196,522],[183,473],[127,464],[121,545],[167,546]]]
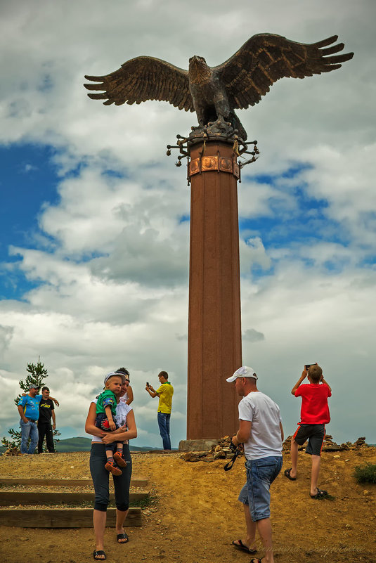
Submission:
[[[303,384],[308,377],[309,384]],[[292,395],[302,397],[302,409],[300,410],[300,422],[297,432],[291,439],[291,462],[292,467],[285,470],[285,477],[290,481],[297,479],[298,446],[302,446],[308,439],[306,453],[312,456],[311,472],[311,498],[323,498],[328,496],[327,491],[321,491],[317,486],[318,472],[320,471],[321,449],[325,437],[325,424],[330,422],[328,397],[332,396],[332,389],[324,380],[323,370],[320,365],[306,366],[299,381],[292,387]]]

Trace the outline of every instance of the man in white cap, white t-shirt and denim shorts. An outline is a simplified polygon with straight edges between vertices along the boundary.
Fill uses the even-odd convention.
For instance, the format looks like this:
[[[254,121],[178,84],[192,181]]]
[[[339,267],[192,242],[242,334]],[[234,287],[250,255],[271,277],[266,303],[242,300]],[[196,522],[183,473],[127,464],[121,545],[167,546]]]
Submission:
[[[246,365],[226,380],[235,382],[242,397],[239,403],[239,429],[233,436],[234,446],[244,445],[247,483],[240,491],[244,505],[247,537],[234,540],[235,548],[255,553],[256,529],[264,545],[263,563],[273,563],[270,521],[270,486],[282,467],[283,427],[280,409],[270,397],[257,389],[257,375]],[[261,559],[251,559],[251,563]]]

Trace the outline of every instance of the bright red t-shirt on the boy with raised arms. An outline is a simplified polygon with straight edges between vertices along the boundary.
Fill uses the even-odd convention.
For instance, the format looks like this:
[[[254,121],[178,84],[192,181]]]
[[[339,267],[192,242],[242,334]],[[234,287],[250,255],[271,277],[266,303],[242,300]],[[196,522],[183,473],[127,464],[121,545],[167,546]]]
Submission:
[[[332,396],[325,383],[306,383],[299,385],[296,397],[302,397],[300,422],[303,425],[325,425],[330,422],[328,397]]]

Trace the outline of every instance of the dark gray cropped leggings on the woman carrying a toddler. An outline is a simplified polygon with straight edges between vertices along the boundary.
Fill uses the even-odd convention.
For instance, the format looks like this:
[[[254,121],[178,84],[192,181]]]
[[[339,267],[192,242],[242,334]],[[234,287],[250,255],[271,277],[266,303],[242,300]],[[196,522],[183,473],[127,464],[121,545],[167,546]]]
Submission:
[[[131,484],[132,473],[132,460],[129,451],[129,445],[124,444],[123,448],[124,459],[127,462],[127,467],[122,467],[122,475],[112,475],[114,479],[115,488],[115,503],[117,510],[128,510],[129,508],[129,486]],[[90,452],[90,472],[93,479],[94,491],[96,491],[96,500],[94,503],[94,510],[107,510],[108,500],[110,498],[110,491],[108,488],[108,478],[110,473],[105,469],[107,456],[105,455],[105,445],[91,444]]]

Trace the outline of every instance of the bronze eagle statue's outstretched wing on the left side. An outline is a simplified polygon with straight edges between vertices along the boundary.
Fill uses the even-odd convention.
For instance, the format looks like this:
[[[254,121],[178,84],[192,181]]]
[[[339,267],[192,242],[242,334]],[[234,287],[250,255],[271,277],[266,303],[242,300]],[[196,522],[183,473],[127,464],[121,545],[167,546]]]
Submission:
[[[89,93],[88,96],[93,100],[105,100],[104,105],[163,100],[179,110],[195,110],[189,91],[188,72],[159,58],[132,58],[110,75],[85,78],[101,83],[84,86],[88,90],[102,90],[101,93]]]

